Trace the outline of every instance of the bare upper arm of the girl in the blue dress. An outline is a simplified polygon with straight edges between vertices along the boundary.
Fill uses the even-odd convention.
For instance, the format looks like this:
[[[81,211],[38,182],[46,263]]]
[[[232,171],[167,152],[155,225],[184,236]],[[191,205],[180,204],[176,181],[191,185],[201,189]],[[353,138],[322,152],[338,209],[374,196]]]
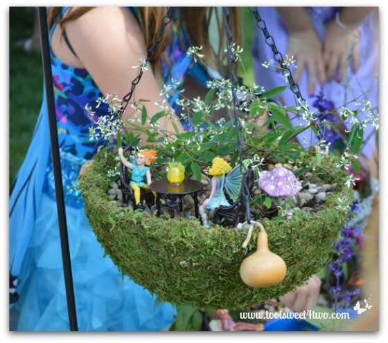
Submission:
[[[130,10],[112,6],[93,8],[66,24],[66,33],[76,51],[80,67],[89,71],[103,95],[117,93],[118,98],[122,99],[130,91],[131,83],[138,73],[138,68],[134,66],[139,66],[139,60],[144,60],[147,54],[143,31]],[[63,39],[62,46],[65,48]],[[160,91],[149,66],[136,85],[131,101],[150,100],[143,104],[148,115],[153,115],[161,111],[155,104],[164,100]],[[127,106],[123,117],[134,117],[131,106]],[[166,116],[159,120],[161,129],[174,131],[173,120],[178,129],[183,131],[175,114],[171,118]]]

